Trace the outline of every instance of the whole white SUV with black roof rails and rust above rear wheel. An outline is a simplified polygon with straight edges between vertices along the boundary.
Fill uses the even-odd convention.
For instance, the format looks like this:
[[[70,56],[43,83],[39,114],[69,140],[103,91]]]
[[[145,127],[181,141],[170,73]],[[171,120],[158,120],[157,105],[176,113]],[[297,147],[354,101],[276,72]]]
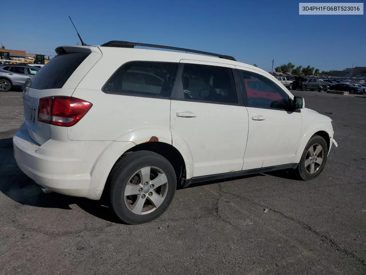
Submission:
[[[56,52],[23,92],[16,162],[44,191],[108,198],[125,223],[156,219],[178,185],[314,179],[337,146],[329,117],[231,56],[124,41]]]

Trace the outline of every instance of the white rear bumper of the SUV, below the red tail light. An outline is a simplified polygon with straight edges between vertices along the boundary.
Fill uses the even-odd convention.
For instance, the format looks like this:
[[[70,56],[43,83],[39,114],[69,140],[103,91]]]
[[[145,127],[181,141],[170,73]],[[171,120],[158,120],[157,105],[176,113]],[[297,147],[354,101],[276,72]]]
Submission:
[[[19,168],[40,186],[60,194],[90,197],[91,171],[104,142],[48,140],[42,146],[29,136],[24,123],[13,136]]]

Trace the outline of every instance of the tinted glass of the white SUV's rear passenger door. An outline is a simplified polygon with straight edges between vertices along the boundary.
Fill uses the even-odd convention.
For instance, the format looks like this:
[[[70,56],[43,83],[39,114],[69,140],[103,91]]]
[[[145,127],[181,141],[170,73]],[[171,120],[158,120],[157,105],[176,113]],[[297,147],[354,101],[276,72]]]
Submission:
[[[187,100],[238,103],[234,76],[227,67],[185,63],[181,88]]]

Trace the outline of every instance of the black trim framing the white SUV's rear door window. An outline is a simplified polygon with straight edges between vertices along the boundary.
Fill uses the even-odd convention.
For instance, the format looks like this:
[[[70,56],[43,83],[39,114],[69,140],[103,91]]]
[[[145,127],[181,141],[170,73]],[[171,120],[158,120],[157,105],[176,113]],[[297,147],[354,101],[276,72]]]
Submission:
[[[227,102],[217,102],[217,101],[209,101],[209,100],[201,100],[201,99],[186,99],[184,98],[183,93],[183,83],[182,83],[182,74],[185,64],[194,64],[194,65],[206,65],[206,66],[214,66],[214,67],[224,67],[230,69],[233,77],[234,77],[234,87],[236,90],[236,98],[238,103],[227,103]],[[242,94],[242,87],[240,85],[240,80],[236,69],[227,67],[227,66],[218,66],[214,64],[201,64],[201,63],[190,63],[190,62],[179,62],[178,73],[175,78],[175,83],[173,87],[173,92],[171,95],[171,100],[178,100],[178,101],[187,101],[187,102],[199,102],[199,103],[210,103],[210,104],[220,104],[220,105],[232,105],[232,106],[244,106],[243,102],[243,94]]]

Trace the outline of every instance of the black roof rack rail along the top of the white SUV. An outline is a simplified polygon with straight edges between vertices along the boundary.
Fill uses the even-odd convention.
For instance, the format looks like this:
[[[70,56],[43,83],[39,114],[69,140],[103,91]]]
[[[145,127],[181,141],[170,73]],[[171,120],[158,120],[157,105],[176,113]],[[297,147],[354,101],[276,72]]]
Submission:
[[[229,55],[214,54],[212,52],[203,52],[203,51],[197,51],[195,49],[185,49],[185,48],[177,48],[177,47],[170,47],[170,46],[163,46],[163,45],[134,43],[134,42],[128,42],[128,41],[119,41],[119,40],[112,40],[112,41],[109,41],[109,42],[101,45],[101,47],[119,47],[119,48],[134,48],[135,46],[161,48],[161,49],[173,49],[176,51],[184,51],[184,52],[194,52],[196,54],[212,55],[212,56],[217,56],[219,58],[236,61],[236,59],[234,57],[229,56]]]

